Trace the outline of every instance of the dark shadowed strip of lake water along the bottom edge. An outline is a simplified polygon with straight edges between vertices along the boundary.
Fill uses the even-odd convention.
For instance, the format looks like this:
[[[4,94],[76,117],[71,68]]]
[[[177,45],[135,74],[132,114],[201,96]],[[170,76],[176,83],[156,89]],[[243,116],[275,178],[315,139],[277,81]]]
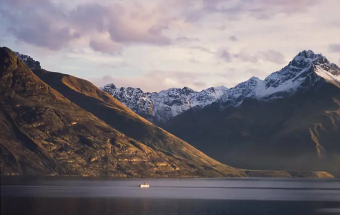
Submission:
[[[1,197],[1,214],[182,215],[182,214],[329,214],[338,202],[212,199]],[[332,213],[336,214],[336,213]]]

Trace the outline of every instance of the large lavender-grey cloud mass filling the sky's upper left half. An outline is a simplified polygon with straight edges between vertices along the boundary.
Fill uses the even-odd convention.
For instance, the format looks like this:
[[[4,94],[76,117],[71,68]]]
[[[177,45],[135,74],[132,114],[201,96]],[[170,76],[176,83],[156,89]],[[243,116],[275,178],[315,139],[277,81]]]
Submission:
[[[141,11],[137,6],[128,9],[118,3],[81,3],[67,9],[51,0],[2,0],[0,13],[7,32],[17,40],[50,50],[84,40],[93,50],[104,53],[132,43],[171,44],[163,34],[171,19]],[[108,35],[111,42],[97,40],[102,35]]]

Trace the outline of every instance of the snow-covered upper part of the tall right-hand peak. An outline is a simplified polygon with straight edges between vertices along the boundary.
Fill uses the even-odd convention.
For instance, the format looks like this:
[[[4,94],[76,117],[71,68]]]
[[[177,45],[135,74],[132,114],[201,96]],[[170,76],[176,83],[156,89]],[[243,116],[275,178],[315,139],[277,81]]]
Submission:
[[[229,88],[221,96],[223,106],[239,106],[245,97],[270,100],[291,96],[296,91],[306,90],[320,81],[340,85],[340,68],[330,63],[323,55],[312,50],[299,52],[279,71],[269,74],[264,80],[251,77]]]

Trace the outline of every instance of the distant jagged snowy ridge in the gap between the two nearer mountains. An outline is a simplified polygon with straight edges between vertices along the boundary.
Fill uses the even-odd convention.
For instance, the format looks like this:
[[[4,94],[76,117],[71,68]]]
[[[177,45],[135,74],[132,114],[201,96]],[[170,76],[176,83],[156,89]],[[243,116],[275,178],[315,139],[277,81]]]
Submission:
[[[128,108],[154,123],[165,122],[193,107],[204,107],[216,100],[228,89],[210,87],[199,92],[188,88],[170,88],[160,92],[143,92],[140,88],[119,87],[113,83],[100,87]]]

